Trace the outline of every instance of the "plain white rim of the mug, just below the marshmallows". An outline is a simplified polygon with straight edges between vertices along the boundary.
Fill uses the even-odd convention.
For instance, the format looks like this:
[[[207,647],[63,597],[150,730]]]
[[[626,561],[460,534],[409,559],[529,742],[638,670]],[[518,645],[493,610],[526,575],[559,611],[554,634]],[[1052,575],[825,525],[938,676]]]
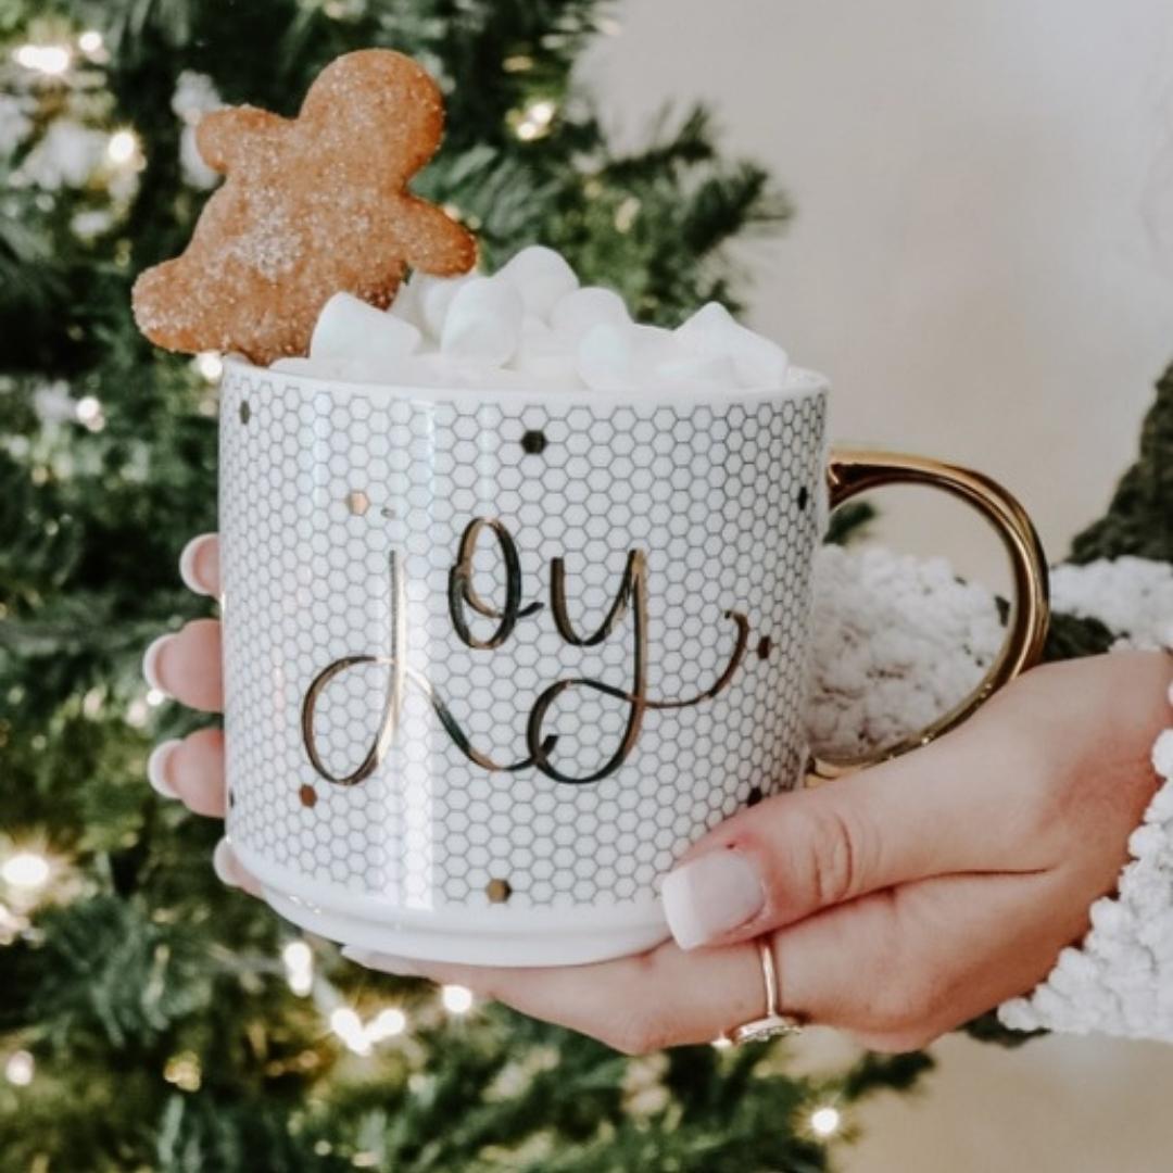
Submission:
[[[673,391],[655,392],[601,392],[590,387],[567,389],[542,389],[534,387],[421,387],[412,384],[358,382],[351,379],[327,379],[319,375],[298,374],[290,371],[273,371],[256,366],[239,354],[224,355],[224,374],[229,371],[250,377],[278,379],[286,386],[305,386],[311,391],[328,391],[344,398],[372,396],[398,399],[412,404],[549,404],[571,402],[586,407],[713,407],[720,404],[760,404],[769,400],[812,399],[830,389],[830,381],[819,371],[792,366],[786,372],[781,387],[739,387],[732,391]]]

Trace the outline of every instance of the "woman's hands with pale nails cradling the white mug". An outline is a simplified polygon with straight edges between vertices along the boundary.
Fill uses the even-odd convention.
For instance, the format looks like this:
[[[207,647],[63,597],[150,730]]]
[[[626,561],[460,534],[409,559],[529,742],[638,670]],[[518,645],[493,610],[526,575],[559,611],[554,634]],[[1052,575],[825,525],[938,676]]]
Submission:
[[[215,540],[194,542],[183,568],[216,594]],[[218,708],[218,624],[156,642],[147,674]],[[767,935],[784,1011],[875,1050],[923,1046],[1029,990],[1086,931],[1157,786],[1148,754],[1168,724],[1171,676],[1167,657],[1144,652],[1036,669],[922,750],[740,812],[667,877],[676,940],[642,956],[564,969],[347,956],[459,982],[636,1053],[759,1017],[753,942]],[[222,814],[222,737],[161,747],[151,779]],[[255,890],[225,845],[217,867]]]

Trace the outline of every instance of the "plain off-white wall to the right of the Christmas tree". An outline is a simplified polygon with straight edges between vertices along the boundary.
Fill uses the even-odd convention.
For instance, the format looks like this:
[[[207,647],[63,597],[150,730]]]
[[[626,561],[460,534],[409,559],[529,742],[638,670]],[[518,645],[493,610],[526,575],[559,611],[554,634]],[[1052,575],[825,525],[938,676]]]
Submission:
[[[704,97],[799,206],[751,320],[826,371],[835,430],[972,463],[1052,557],[1130,460],[1173,358],[1169,0],[629,0],[586,76],[628,130]],[[883,502],[877,502],[884,504]],[[952,508],[952,507],[945,507]],[[883,536],[989,571],[911,499]],[[814,1032],[811,1062],[834,1042]],[[1173,1047],[950,1039],[846,1167],[1173,1167]]]

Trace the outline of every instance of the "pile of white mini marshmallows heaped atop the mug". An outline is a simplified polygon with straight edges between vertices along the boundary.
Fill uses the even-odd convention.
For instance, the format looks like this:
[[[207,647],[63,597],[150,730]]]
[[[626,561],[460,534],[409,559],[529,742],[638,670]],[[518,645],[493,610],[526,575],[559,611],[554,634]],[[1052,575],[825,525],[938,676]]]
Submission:
[[[557,252],[533,246],[491,277],[415,273],[386,311],[335,293],[308,358],[272,369],[415,387],[704,393],[780,388],[787,358],[716,301],[676,330],[639,325],[618,293],[579,285]]]

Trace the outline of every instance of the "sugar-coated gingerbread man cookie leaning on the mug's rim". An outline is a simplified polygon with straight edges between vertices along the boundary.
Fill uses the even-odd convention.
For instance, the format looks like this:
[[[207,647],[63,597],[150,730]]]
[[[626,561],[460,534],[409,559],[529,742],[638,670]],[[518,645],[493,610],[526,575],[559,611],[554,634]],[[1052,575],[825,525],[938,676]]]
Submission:
[[[242,106],[196,135],[228,176],[191,243],[135,283],[142,332],[171,351],[304,354],[334,293],[391,304],[411,266],[467,272],[473,237],[406,190],[443,127],[435,82],[388,49],[348,53],[310,87],[296,118]]]

